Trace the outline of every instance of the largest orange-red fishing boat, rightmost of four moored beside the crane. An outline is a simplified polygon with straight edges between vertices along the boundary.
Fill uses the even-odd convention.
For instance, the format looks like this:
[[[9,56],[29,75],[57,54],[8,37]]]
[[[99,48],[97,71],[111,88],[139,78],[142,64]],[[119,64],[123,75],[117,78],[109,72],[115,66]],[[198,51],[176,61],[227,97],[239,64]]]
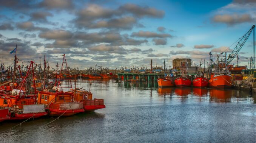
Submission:
[[[232,76],[224,62],[218,62],[215,66],[214,73],[211,73],[209,86],[222,89],[232,87]]]

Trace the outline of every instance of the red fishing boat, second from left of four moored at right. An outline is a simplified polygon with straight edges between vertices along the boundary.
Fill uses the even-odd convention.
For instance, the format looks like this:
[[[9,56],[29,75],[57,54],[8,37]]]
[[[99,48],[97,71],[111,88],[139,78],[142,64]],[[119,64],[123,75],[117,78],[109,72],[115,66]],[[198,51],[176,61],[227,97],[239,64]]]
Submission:
[[[191,80],[188,79],[187,70],[186,70],[187,66],[186,65],[187,65],[187,62],[182,62],[181,63],[180,77],[178,77],[174,80],[175,86],[191,87]]]

